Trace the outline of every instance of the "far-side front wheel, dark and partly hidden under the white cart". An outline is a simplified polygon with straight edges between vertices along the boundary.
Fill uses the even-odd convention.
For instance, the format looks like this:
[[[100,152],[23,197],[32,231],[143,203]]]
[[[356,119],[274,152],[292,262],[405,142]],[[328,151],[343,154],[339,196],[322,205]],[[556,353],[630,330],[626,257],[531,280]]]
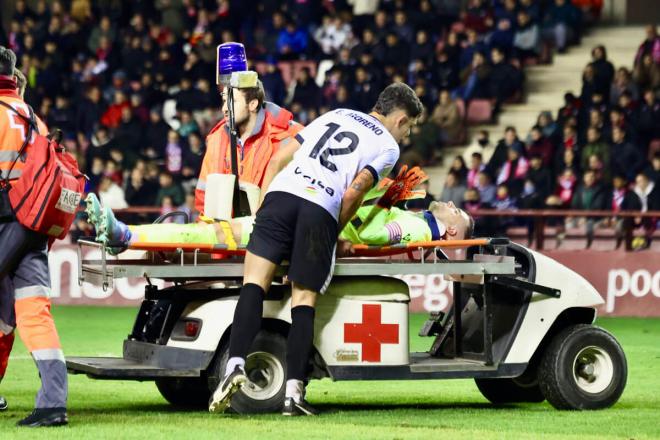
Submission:
[[[475,379],[477,388],[481,394],[491,403],[496,405],[503,403],[533,402],[539,403],[545,400],[536,374],[526,377],[523,374],[513,379]]]

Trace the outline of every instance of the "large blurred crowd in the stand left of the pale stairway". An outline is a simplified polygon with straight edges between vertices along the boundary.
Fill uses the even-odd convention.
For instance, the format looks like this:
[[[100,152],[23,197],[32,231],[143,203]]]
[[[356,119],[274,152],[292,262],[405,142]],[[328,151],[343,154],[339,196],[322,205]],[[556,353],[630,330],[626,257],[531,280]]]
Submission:
[[[463,3],[17,0],[0,43],[19,58],[27,102],[63,130],[87,190],[112,208],[192,210],[204,136],[222,117],[219,43],[243,42],[266,66],[268,99],[302,123],[339,106],[368,110],[384,85],[407,82],[426,112],[404,155],[431,163],[462,131],[459,101],[499,108],[520,91],[524,60],[544,41],[565,50],[599,12],[598,1]],[[312,68],[285,84],[278,66],[296,60]]]

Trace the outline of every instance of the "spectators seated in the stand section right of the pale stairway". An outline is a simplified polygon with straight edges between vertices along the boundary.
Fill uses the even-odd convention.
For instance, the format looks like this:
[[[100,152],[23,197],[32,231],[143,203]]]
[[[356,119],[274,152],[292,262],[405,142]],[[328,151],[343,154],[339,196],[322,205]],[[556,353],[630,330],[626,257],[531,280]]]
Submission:
[[[606,48],[595,47],[580,95],[566,93],[556,117],[541,113],[526,138],[507,127],[487,162],[479,151],[469,164],[457,156],[441,199],[468,211],[660,210],[659,74],[660,37],[654,26],[647,27],[632,70],[615,69]],[[489,133],[480,132],[479,145],[489,142]],[[584,219],[588,234],[595,226],[611,225],[621,238],[622,220],[599,220]],[[646,219],[638,226],[650,236],[657,221]],[[497,233],[516,220],[481,218],[477,223],[482,231]]]

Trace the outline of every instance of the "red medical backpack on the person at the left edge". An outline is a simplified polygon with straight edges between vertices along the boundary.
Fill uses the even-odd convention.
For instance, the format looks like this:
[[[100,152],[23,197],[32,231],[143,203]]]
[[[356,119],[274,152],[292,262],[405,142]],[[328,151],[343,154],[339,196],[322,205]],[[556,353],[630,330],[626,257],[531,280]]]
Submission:
[[[28,125],[18,158],[9,169],[25,158],[23,172],[11,184],[8,172],[3,182],[9,188],[9,202],[16,220],[28,229],[62,239],[76,217],[87,177],[78,170],[76,159],[59,145],[61,131],[43,136],[39,134],[32,108],[28,106],[30,118],[27,118],[3,101],[0,105],[14,111]]]

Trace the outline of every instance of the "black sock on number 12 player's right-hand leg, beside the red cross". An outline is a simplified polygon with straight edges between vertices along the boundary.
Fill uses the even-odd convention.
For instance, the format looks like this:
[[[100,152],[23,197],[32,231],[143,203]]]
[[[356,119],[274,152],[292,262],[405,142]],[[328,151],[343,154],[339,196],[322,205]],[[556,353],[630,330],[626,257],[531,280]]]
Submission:
[[[309,353],[314,341],[314,307],[296,306],[291,309],[291,329],[286,341],[286,377],[304,381],[307,376]]]

